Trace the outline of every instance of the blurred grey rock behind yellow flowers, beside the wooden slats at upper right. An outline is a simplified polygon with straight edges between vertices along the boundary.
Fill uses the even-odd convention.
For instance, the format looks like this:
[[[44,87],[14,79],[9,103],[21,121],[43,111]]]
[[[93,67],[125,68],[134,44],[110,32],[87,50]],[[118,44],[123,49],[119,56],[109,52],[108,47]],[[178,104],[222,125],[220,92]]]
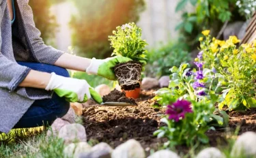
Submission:
[[[227,40],[231,35],[236,35],[236,37],[238,37],[238,33],[240,32],[240,29],[242,28],[243,25],[243,21],[229,23],[225,30],[223,31],[223,38]]]

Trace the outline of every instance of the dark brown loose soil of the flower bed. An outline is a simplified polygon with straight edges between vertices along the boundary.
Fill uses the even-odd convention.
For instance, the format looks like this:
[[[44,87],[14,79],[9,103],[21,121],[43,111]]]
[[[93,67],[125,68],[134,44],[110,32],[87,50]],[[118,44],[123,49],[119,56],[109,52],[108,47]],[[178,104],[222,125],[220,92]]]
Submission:
[[[87,138],[96,142],[106,142],[113,148],[129,139],[138,140],[146,154],[150,150],[158,150],[167,140],[153,136],[163,124],[160,123],[161,115],[165,110],[153,108],[151,91],[141,91],[141,97],[136,99],[138,106],[134,107],[109,107],[91,105],[83,111]],[[233,137],[234,131],[240,127],[239,134],[246,131],[256,131],[256,108],[245,112],[227,112],[229,114],[229,127],[219,128],[207,132],[210,146],[225,146],[227,138]],[[177,146],[178,153],[188,153],[186,146]]]

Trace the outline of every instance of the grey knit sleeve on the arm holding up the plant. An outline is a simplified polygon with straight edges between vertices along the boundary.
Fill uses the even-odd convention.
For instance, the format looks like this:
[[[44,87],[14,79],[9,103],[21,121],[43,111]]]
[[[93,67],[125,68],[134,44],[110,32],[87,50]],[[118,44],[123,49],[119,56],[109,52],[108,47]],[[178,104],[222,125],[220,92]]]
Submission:
[[[31,51],[33,56],[39,63],[46,63],[53,65],[59,57],[64,53],[60,50],[53,48],[52,46],[46,46],[42,38],[40,37],[40,31],[35,27],[35,22],[33,20],[33,12],[28,4],[28,0],[24,0],[23,6],[21,6],[21,14],[23,17],[23,23],[25,27],[25,33],[27,34],[27,39],[31,45]]]

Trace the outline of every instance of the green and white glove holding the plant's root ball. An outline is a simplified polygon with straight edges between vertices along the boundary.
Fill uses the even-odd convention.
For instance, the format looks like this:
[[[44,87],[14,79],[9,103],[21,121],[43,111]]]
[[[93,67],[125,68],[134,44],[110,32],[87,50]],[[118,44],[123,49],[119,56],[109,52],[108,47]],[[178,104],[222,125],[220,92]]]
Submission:
[[[95,74],[98,76],[102,76],[109,80],[116,80],[115,73],[113,72],[113,68],[115,65],[119,63],[126,63],[131,61],[132,59],[116,56],[107,59],[91,59],[91,64],[87,67],[87,74]]]

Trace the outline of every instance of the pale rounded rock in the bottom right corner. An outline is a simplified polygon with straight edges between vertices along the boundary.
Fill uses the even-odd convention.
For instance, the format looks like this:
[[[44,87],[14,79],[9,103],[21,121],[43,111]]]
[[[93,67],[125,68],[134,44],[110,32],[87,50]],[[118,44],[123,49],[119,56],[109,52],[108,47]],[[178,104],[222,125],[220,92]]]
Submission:
[[[256,133],[247,131],[238,137],[231,151],[231,157],[255,157]]]

